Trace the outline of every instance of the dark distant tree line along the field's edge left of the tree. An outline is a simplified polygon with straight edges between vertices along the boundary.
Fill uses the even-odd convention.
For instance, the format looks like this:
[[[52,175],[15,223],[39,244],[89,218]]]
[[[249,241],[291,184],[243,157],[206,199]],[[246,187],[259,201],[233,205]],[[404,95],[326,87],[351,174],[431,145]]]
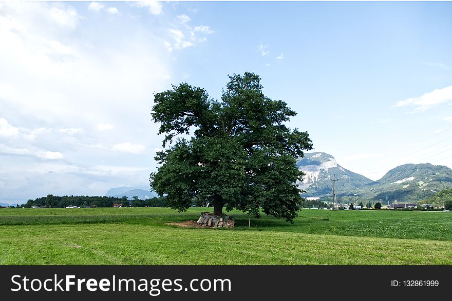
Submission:
[[[153,197],[149,199],[138,199],[134,196],[134,199],[129,202],[126,196],[113,197],[113,196],[58,196],[49,194],[47,196],[39,197],[36,199],[29,199],[24,205],[25,208],[31,208],[33,206],[45,208],[65,208],[67,206],[77,207],[113,207],[113,204],[122,204],[123,207],[168,207],[165,197]]]

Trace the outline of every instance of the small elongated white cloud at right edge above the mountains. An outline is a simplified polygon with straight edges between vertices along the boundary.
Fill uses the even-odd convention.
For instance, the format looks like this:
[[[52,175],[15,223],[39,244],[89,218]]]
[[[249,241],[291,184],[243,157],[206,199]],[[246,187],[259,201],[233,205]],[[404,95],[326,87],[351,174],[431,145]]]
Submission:
[[[452,101],[452,86],[424,93],[419,97],[411,97],[399,101],[395,107],[416,106],[414,112],[421,112],[436,105]]]

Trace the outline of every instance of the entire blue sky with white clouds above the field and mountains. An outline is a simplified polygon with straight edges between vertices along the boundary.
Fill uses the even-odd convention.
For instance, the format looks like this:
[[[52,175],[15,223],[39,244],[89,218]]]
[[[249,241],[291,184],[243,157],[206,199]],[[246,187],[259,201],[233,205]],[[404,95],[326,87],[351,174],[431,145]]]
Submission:
[[[447,2],[0,2],[0,202],[148,187],[154,93],[186,82],[219,99],[246,71],[344,168],[452,168],[451,16]]]

